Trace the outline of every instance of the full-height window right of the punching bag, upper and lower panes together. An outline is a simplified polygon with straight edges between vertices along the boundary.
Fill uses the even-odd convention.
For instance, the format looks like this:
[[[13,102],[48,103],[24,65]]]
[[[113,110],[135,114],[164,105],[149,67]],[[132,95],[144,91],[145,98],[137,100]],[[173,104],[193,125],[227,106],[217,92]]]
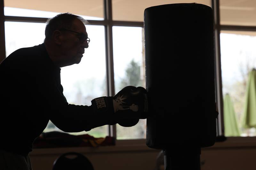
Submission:
[[[250,115],[248,103],[256,105],[248,98],[254,92],[247,90],[256,67],[255,1],[220,0],[219,4],[223,132],[228,137],[256,136],[255,128],[247,125],[254,118],[246,117]]]

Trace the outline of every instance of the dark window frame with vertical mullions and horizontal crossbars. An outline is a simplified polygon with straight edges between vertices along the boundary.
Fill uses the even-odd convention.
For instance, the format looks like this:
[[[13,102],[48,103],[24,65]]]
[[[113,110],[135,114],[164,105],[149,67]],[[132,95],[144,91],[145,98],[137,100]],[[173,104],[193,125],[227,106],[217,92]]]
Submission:
[[[112,19],[112,0],[103,0],[104,20],[88,20],[88,25],[101,25],[105,27],[105,49],[106,49],[106,75],[107,75],[107,89],[108,96],[115,95],[114,85],[114,65],[113,65],[113,39],[112,26],[136,26],[144,27],[143,22],[132,21],[115,21]],[[220,0],[212,0],[212,9],[214,14],[214,41],[215,41],[215,87],[216,87],[216,102],[219,108],[219,117],[217,120],[217,136],[224,136],[224,121],[223,121],[223,99],[222,99],[222,77],[221,77],[221,62],[220,62],[220,31],[256,31],[256,26],[239,26],[239,25],[220,25]],[[18,17],[18,16],[4,16],[4,0],[0,0],[0,63],[5,58],[5,34],[4,22],[37,22],[45,23],[48,18],[36,17]],[[108,135],[116,138],[116,125],[109,125]],[[228,137],[232,138],[232,137]],[[251,138],[251,137],[235,137]],[[256,140],[256,138],[251,138]],[[145,139],[129,139],[117,140],[116,144],[145,144]]]

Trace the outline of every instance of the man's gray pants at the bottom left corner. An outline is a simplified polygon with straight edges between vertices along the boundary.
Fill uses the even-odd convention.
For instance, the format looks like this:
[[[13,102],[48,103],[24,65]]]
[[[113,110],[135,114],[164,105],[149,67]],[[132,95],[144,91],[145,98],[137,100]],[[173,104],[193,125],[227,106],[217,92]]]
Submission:
[[[30,158],[0,150],[0,170],[32,170]]]

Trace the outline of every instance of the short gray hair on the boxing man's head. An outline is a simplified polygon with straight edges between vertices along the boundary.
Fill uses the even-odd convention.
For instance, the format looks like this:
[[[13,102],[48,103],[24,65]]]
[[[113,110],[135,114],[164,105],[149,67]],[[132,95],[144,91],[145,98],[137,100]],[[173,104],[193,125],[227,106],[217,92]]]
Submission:
[[[84,23],[84,25],[88,24],[88,21],[80,16],[73,15],[71,13],[61,13],[56,15],[53,18],[49,18],[46,22],[45,26],[45,40],[51,39],[52,33],[55,30],[59,30],[60,28],[71,29],[73,26],[73,21],[75,19],[79,19]]]

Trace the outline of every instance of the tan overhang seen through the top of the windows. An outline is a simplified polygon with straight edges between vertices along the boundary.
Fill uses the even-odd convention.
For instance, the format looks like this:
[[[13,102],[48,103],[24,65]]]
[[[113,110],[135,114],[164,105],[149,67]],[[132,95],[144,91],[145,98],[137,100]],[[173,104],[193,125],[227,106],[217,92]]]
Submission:
[[[113,20],[142,22],[150,6],[194,2],[211,6],[211,0],[112,0]],[[4,6],[103,18],[103,0],[4,0]],[[256,1],[220,0],[220,24],[256,26]]]

